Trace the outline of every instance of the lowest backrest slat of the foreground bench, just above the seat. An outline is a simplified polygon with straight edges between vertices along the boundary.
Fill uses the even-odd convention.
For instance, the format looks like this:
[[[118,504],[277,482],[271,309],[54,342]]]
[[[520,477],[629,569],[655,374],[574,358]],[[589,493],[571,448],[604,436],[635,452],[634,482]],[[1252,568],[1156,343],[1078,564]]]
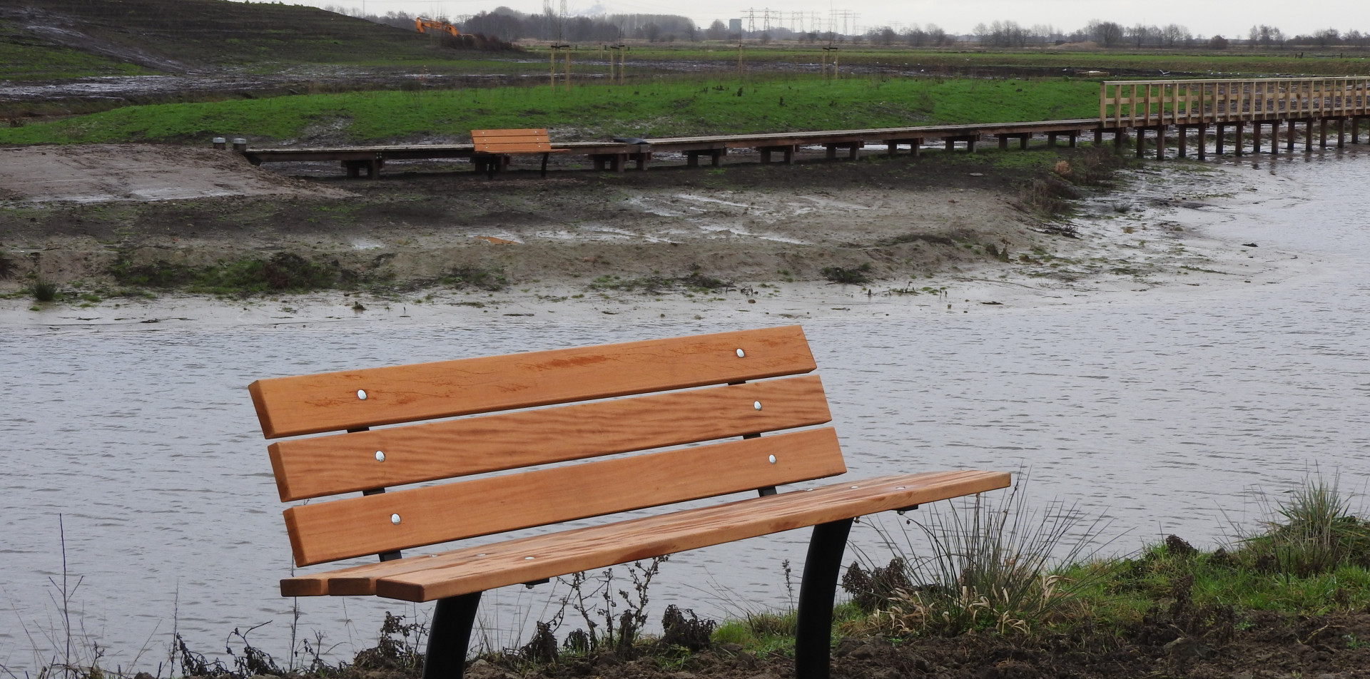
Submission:
[[[832,427],[292,507],[296,565],[833,476]],[[603,489],[603,491],[601,491]],[[399,523],[393,523],[393,516]]]

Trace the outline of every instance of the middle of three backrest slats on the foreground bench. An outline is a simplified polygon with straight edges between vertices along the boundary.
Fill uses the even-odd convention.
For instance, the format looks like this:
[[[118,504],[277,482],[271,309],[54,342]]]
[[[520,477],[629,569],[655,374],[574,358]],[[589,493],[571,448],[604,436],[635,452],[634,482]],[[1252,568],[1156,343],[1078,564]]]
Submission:
[[[290,501],[829,420],[822,381],[807,375],[281,441],[269,450],[281,500]]]

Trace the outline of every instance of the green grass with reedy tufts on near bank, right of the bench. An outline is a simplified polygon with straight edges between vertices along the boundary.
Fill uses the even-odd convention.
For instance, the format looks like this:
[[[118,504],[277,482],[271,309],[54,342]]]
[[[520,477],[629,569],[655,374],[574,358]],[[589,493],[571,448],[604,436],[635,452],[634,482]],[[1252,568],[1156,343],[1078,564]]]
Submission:
[[[1084,519],[1066,509],[1036,516],[1011,497],[933,512],[919,523],[933,543],[927,553],[900,549],[891,565],[901,567],[900,574],[870,568],[866,576],[848,575],[843,586],[873,611],[866,631],[900,635],[1033,634],[1096,624],[1125,631],[1158,616],[1199,624],[1254,612],[1319,616],[1370,605],[1370,524],[1349,513],[1336,482],[1306,479],[1282,501],[1266,502],[1256,533],[1211,552],[1171,535],[1136,556],[1081,560],[1078,538],[1095,534],[1097,523],[1077,530]],[[1062,561],[1052,565],[1058,554]],[[882,578],[897,586],[851,586]]]

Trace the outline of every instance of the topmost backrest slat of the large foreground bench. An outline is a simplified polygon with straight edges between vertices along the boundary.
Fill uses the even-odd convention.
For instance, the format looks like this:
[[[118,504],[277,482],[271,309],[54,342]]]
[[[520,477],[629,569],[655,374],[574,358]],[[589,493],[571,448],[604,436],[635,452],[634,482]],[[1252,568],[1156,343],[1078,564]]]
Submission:
[[[797,375],[815,367],[804,331],[786,326],[259,379],[248,389],[263,434],[279,438]]]

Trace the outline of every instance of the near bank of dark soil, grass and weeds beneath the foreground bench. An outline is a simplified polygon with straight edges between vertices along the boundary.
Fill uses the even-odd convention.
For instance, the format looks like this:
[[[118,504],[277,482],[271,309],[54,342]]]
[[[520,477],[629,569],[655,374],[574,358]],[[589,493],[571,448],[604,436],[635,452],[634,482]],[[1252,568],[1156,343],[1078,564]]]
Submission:
[[[1019,490],[911,515],[886,534],[895,556],[886,567],[858,554],[864,563],[843,578],[849,601],[837,608],[833,642],[840,663],[860,658],[855,646],[867,660],[871,649],[882,654],[845,665],[847,674],[1191,676],[1191,664],[1207,663],[1193,676],[1302,676],[1312,664],[1359,669],[1370,656],[1370,624],[1359,616],[1370,611],[1370,523],[1352,515],[1336,482],[1310,478],[1286,500],[1262,500],[1259,527],[1226,546],[1199,550],[1171,535],[1110,559],[1096,556],[1101,522],[1060,502],[1032,508]],[[485,661],[532,676],[748,676],[759,663],[785,667],[793,611],[718,624],[669,606],[662,635],[644,635],[651,582],[664,561],[633,564],[632,585],[622,574],[566,578],[570,591],[551,622],[537,623],[521,648],[488,650]],[[782,568],[789,586],[788,563]],[[378,646],[338,665],[308,643],[278,663],[234,634],[244,648],[227,664],[178,638],[170,676],[419,676],[426,630],[386,616]],[[996,674],[1008,660],[1015,674]],[[49,669],[114,675],[97,663],[78,652]]]

